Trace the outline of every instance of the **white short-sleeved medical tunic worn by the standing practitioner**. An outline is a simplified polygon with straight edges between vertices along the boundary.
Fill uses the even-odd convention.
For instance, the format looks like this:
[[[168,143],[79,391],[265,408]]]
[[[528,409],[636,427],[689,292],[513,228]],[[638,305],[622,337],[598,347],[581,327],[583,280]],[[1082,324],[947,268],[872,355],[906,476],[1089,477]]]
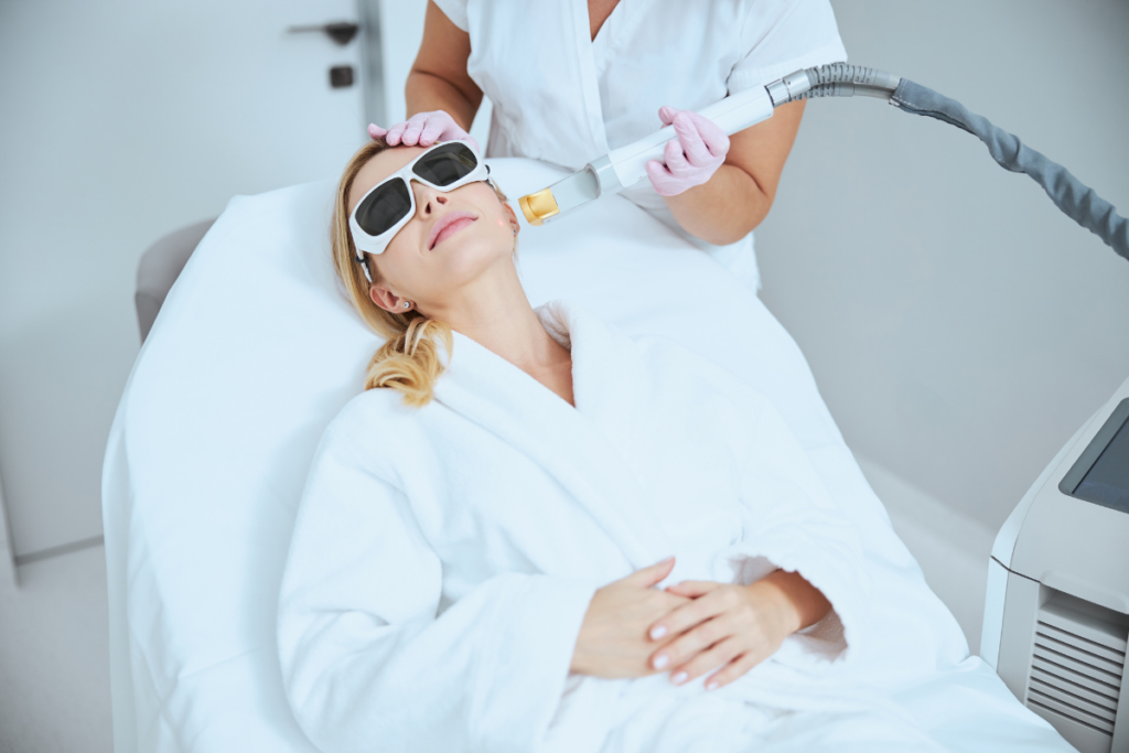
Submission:
[[[587,0],[436,0],[471,37],[466,68],[493,103],[488,157],[579,170],[663,123],[799,68],[847,60],[829,0],[620,0],[592,40]],[[679,225],[650,181],[623,192],[754,291],[750,234],[718,246]]]

